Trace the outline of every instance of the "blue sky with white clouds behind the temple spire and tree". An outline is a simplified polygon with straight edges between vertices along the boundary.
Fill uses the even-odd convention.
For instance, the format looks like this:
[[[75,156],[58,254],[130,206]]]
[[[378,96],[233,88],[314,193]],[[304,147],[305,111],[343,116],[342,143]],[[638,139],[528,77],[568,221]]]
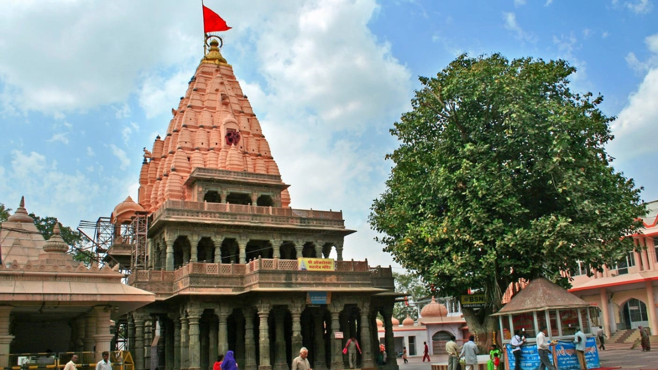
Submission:
[[[367,216],[417,76],[459,53],[566,59],[572,89],[619,119],[608,151],[658,199],[655,0],[207,0],[222,53],[261,121],[291,206],[342,209],[347,258],[393,264]],[[164,134],[203,56],[200,1],[5,0],[0,202],[64,225],[136,197],[142,147]]]

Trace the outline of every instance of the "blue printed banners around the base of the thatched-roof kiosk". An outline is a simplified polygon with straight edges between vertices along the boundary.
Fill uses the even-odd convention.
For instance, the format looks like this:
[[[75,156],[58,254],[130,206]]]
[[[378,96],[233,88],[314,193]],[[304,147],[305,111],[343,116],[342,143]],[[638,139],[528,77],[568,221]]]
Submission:
[[[514,368],[514,354],[512,354],[512,346],[507,344],[506,352],[509,359],[510,369]],[[553,352],[557,356],[557,369],[559,370],[580,370],[578,364],[578,357],[576,357],[576,344],[571,341],[559,340],[555,346],[551,346],[551,354],[548,358],[553,363]],[[587,361],[588,369],[595,369],[601,367],[599,361],[599,352],[596,349],[596,340],[593,336],[587,338],[585,349],[585,361]],[[526,344],[521,346],[521,369],[522,370],[537,370],[539,369],[540,359],[539,352],[537,352],[537,344]]]

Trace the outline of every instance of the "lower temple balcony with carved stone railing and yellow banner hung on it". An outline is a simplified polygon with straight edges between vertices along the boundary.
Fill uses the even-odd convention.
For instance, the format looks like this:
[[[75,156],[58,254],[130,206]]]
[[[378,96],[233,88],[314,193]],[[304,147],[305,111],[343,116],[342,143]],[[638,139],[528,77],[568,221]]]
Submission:
[[[368,267],[367,261],[334,261],[334,271],[301,271],[296,259],[253,259],[234,263],[188,263],[176,271],[134,271],[128,284],[157,294],[235,295],[245,292],[322,290],[378,292],[393,290],[390,267]]]

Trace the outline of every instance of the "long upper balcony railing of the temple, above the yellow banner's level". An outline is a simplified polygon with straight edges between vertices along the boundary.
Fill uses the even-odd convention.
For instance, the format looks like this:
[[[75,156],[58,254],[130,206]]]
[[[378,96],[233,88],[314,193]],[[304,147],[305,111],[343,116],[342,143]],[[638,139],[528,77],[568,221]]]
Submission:
[[[257,205],[173,199],[164,201],[163,205],[153,213],[153,221],[149,227],[155,227],[161,221],[345,229],[342,211],[259,207]]]

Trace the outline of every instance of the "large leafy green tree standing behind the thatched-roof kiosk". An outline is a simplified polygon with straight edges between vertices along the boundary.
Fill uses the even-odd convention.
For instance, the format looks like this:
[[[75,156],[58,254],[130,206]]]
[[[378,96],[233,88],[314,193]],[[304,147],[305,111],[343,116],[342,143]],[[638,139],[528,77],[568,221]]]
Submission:
[[[395,166],[370,224],[403,267],[459,296],[484,292],[484,309],[463,309],[481,344],[490,313],[519,279],[548,277],[586,261],[594,269],[634,248],[624,238],[645,207],[616,172],[601,96],[570,91],[565,61],[460,55],[420,78],[413,110],[391,130]]]

